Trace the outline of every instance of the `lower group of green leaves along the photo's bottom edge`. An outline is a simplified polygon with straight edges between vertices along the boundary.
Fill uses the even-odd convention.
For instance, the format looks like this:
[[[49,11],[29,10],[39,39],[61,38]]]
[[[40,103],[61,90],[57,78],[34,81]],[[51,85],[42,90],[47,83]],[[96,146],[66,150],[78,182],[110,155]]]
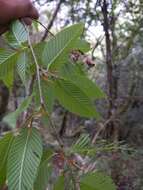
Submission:
[[[77,141],[76,147],[86,147],[87,136]],[[74,146],[74,147],[75,147]],[[59,153],[57,153],[59,154]],[[43,149],[39,131],[36,128],[22,128],[17,136],[12,133],[6,134],[0,139],[0,187],[5,184],[10,190],[45,190],[53,175],[53,159],[55,152],[52,149]],[[60,155],[60,154],[59,154]],[[62,155],[62,154],[61,154]],[[61,157],[56,157],[56,164]],[[66,159],[66,158],[65,158]],[[67,157],[68,159],[68,157]],[[72,166],[71,160],[70,167]],[[62,172],[54,184],[54,190],[63,190],[65,177]],[[69,180],[71,189],[74,185]],[[88,172],[80,176],[81,190],[94,189],[115,190],[112,179],[101,172]]]

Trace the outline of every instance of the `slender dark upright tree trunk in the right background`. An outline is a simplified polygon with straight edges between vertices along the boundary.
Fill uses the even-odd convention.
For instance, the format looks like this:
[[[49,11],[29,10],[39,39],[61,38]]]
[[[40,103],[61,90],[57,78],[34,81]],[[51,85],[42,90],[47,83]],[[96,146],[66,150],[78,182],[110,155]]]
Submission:
[[[117,98],[117,81],[113,76],[113,72],[116,67],[113,67],[113,55],[112,55],[112,40],[111,40],[111,23],[108,13],[108,3],[103,0],[101,6],[103,14],[103,29],[105,32],[105,44],[106,44],[106,67],[107,67],[107,81],[108,81],[108,100],[109,108],[107,119],[116,118],[116,98]],[[114,119],[107,125],[106,136],[108,138],[118,139],[118,124]]]

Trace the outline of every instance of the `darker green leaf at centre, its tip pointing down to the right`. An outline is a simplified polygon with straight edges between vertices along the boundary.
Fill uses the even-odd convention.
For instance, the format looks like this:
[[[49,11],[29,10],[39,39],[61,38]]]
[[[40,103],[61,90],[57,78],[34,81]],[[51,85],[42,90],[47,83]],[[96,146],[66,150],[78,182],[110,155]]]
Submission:
[[[59,102],[69,111],[83,117],[99,118],[99,114],[88,96],[71,81],[56,80],[54,92]]]

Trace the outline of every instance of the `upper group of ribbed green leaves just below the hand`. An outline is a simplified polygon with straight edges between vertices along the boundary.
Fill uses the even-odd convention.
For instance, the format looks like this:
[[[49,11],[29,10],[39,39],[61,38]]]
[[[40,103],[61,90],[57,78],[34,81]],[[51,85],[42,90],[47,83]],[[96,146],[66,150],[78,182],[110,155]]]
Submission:
[[[30,76],[36,72],[29,46],[23,43],[27,40],[27,32],[21,23],[14,23],[12,31],[14,36],[10,33],[6,38],[14,50],[2,50],[0,78],[10,87],[13,84],[16,68],[23,84],[27,86]],[[105,95],[94,82],[88,79],[82,65],[73,64],[69,59],[69,53],[73,49],[84,53],[90,50],[89,44],[80,39],[82,32],[82,24],[73,25],[48,42],[34,45],[33,49],[40,65],[43,99],[49,110],[52,110],[49,105],[53,105],[55,99],[58,99],[71,112],[80,116],[98,118],[99,114],[93,100],[103,98]],[[35,94],[38,103],[39,92]]]

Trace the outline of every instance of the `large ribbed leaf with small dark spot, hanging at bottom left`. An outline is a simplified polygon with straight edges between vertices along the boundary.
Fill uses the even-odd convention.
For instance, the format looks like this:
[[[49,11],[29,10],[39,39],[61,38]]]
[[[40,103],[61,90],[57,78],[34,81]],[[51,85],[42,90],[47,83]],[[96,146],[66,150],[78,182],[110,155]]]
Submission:
[[[9,190],[31,190],[42,156],[42,141],[36,128],[22,128],[8,156]]]

